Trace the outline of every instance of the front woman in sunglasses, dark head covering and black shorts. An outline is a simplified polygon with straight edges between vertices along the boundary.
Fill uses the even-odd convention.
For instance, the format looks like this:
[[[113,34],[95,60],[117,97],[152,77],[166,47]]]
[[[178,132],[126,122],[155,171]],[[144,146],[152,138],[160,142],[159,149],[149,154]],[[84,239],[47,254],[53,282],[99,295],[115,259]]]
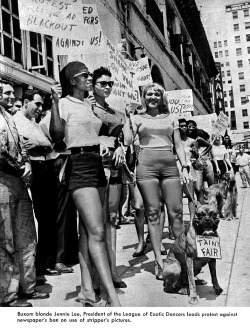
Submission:
[[[93,289],[92,263],[108,294],[111,306],[120,306],[113,285],[105,243],[102,204],[98,187],[105,185],[102,156],[106,149],[99,142],[102,121],[92,111],[85,94],[92,90],[92,77],[81,62],[70,62],[60,73],[62,98],[58,85],[52,87],[54,105],[50,134],[55,142],[65,137],[71,150],[69,190],[79,212],[79,262],[81,291],[78,300],[85,306],[107,306]],[[58,105],[59,103],[59,105]]]

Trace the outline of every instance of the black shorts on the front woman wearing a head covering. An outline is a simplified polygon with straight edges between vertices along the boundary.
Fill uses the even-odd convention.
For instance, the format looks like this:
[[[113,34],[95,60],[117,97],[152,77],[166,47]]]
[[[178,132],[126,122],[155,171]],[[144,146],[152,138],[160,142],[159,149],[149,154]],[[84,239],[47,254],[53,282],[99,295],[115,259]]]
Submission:
[[[99,152],[81,152],[70,156],[69,190],[106,185],[102,158]]]

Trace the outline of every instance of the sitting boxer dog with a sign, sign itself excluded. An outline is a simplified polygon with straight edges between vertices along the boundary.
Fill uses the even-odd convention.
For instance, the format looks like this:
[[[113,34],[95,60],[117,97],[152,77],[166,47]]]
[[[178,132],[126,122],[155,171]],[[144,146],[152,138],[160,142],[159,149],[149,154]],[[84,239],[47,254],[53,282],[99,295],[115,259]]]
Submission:
[[[163,280],[167,293],[187,295],[189,291],[190,303],[197,304],[195,276],[206,264],[209,265],[216,295],[222,293],[223,289],[220,287],[216,275],[216,259],[198,258],[196,247],[197,235],[218,236],[219,221],[219,212],[215,206],[196,203],[194,220],[190,222],[188,231],[181,233],[175,240],[163,264]]]

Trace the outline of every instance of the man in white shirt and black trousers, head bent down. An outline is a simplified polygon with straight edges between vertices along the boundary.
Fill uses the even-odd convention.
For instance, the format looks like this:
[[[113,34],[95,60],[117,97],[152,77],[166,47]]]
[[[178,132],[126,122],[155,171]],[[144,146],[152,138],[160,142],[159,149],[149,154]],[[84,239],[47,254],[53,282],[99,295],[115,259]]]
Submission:
[[[39,284],[44,275],[59,275],[55,270],[57,251],[57,177],[54,160],[47,160],[52,144],[35,119],[42,111],[43,95],[38,90],[27,90],[21,111],[13,115],[19,133],[28,150],[33,172],[31,194],[38,222],[36,274]]]

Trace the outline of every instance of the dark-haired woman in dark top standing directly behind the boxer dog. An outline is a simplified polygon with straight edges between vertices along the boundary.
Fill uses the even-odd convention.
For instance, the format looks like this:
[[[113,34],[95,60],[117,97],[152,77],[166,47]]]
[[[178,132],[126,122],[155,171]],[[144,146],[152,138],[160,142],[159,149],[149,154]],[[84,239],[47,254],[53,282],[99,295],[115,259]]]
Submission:
[[[207,181],[208,186],[214,183],[213,165],[208,156],[212,145],[208,141],[209,134],[197,129],[197,124],[193,120],[187,121],[187,136],[196,140],[197,148],[193,148],[195,160],[192,163],[196,173],[195,193],[198,201],[204,204],[204,180]]]

